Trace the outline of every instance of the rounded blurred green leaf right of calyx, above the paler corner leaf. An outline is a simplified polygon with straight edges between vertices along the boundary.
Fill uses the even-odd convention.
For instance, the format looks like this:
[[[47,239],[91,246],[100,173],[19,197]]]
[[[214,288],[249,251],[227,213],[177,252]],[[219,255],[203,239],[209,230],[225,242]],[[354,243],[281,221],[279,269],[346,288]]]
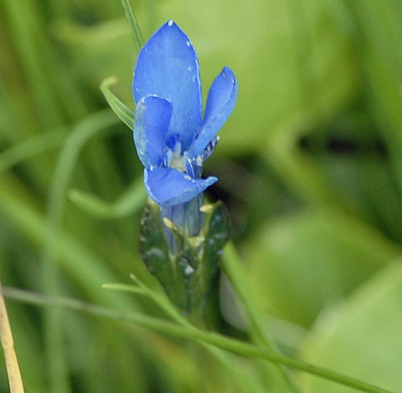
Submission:
[[[399,252],[373,227],[320,207],[270,223],[246,258],[261,306],[308,327]]]

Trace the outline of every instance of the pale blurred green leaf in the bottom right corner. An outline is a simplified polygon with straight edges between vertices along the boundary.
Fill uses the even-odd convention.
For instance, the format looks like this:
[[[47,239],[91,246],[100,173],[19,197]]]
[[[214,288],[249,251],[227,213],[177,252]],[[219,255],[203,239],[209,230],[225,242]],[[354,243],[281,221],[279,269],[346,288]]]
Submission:
[[[301,356],[353,375],[367,383],[399,392],[402,386],[401,259],[381,270],[347,301],[319,318],[304,342]],[[311,376],[301,376],[311,393],[353,393]]]

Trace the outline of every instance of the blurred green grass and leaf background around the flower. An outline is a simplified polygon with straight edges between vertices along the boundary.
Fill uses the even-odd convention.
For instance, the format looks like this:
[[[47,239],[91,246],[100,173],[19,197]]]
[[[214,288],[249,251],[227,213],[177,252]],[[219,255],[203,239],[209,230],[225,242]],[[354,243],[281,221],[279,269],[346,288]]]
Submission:
[[[132,6],[145,39],[167,19],[189,35],[204,97],[223,66],[236,73],[238,103],[204,173],[219,177],[209,198],[227,204],[274,340],[291,356],[399,390],[402,2]],[[146,299],[101,288],[130,283],[132,272],[159,290],[137,251],[142,166],[99,89],[117,76],[112,89],[133,108],[135,58],[119,0],[1,1],[3,286],[158,315]],[[220,297],[217,329],[241,335],[226,286]],[[180,340],[7,303],[27,392],[244,392]],[[236,362],[254,375],[251,360]],[[296,377],[303,392],[352,392]]]

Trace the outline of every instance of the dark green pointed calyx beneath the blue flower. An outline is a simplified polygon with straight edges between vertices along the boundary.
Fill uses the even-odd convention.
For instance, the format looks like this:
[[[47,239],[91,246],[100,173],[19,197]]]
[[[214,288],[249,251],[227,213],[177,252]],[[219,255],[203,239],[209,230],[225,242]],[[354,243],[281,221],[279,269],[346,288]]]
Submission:
[[[162,220],[159,206],[152,200],[141,220],[141,258],[186,315],[204,308],[229,238],[229,220],[222,202],[204,205],[200,214],[204,214],[204,227],[198,236],[186,235],[171,220]],[[166,227],[175,238],[174,253],[166,241]]]

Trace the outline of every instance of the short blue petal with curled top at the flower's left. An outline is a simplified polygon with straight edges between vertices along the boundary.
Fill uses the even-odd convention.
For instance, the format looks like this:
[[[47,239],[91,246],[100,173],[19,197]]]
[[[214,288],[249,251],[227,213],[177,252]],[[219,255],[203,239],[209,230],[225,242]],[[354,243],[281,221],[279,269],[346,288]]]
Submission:
[[[171,114],[172,104],[155,96],[142,98],[135,108],[134,143],[146,168],[162,164]]]

